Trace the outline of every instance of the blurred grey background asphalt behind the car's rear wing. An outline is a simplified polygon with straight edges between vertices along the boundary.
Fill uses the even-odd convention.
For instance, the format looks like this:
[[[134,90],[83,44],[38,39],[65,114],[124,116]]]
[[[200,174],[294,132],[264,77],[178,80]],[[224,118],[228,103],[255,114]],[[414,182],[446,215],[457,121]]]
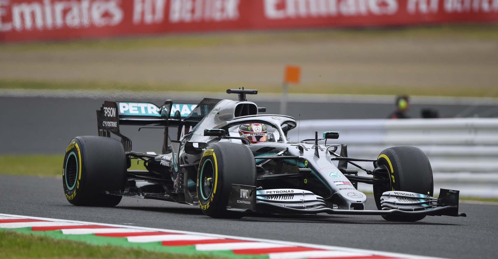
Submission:
[[[225,95],[228,97],[228,94]],[[278,101],[257,101],[257,95],[248,98],[266,107],[266,114],[279,113]],[[164,99],[126,98],[128,101],[150,101],[158,105]],[[200,98],[186,97],[174,101],[198,103]],[[104,98],[0,97],[0,154],[63,154],[73,137],[97,135],[95,111],[102,103]],[[496,103],[469,107],[468,104],[458,103],[411,104],[408,115],[418,118],[422,108],[437,109],[441,117],[454,117],[462,112],[468,115],[490,114],[495,109],[498,114]],[[288,114],[298,120],[386,118],[394,108],[390,99],[383,103],[301,101],[289,102]],[[144,129],[137,132],[137,129],[129,126],[121,128],[122,133],[132,140],[134,151],[161,150],[162,130]]]

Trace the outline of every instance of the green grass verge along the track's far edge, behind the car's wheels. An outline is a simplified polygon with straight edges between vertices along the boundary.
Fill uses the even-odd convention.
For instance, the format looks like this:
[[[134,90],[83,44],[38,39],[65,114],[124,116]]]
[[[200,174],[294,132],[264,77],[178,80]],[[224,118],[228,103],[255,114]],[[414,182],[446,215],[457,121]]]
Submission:
[[[62,161],[60,155],[18,155],[0,156],[0,174],[32,175],[42,177],[62,176]],[[25,163],[30,161],[30,163]],[[133,170],[145,170],[143,163],[136,160],[131,161]],[[365,192],[373,196],[373,193]],[[498,202],[498,198],[460,197],[460,200]],[[1,257],[0,257],[1,258]]]

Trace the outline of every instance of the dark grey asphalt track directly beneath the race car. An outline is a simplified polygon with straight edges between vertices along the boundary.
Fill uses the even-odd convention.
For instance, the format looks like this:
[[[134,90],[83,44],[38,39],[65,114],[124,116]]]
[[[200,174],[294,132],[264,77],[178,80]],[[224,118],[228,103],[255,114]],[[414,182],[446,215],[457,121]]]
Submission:
[[[455,259],[495,259],[498,205],[461,204],[467,217],[387,222],[379,216],[260,216],[212,219],[197,206],[123,198],[114,208],[77,207],[61,178],[0,175],[0,213],[167,228]],[[374,209],[372,197],[367,209]]]

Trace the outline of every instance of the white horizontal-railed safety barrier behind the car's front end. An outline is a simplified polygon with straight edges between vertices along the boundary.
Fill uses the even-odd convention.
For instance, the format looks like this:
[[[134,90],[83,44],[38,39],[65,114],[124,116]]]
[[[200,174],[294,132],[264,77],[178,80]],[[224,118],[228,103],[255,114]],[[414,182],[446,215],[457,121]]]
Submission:
[[[431,162],[436,193],[452,188],[461,196],[498,197],[498,119],[301,120],[298,126],[289,132],[291,141],[298,134],[302,140],[314,138],[315,131],[320,137],[324,131],[340,131],[339,139],[328,144],[347,144],[349,157],[376,159],[385,148],[419,147]],[[372,163],[359,164],[373,168]],[[368,184],[359,189],[372,191]]]

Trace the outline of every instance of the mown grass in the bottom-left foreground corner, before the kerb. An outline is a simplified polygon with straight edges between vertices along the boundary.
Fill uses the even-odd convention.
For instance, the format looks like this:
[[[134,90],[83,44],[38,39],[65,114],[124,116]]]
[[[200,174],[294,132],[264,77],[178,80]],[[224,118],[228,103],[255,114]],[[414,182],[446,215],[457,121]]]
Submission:
[[[93,246],[40,235],[0,231],[0,258],[5,259],[208,259],[221,257],[176,255],[117,246]]]

